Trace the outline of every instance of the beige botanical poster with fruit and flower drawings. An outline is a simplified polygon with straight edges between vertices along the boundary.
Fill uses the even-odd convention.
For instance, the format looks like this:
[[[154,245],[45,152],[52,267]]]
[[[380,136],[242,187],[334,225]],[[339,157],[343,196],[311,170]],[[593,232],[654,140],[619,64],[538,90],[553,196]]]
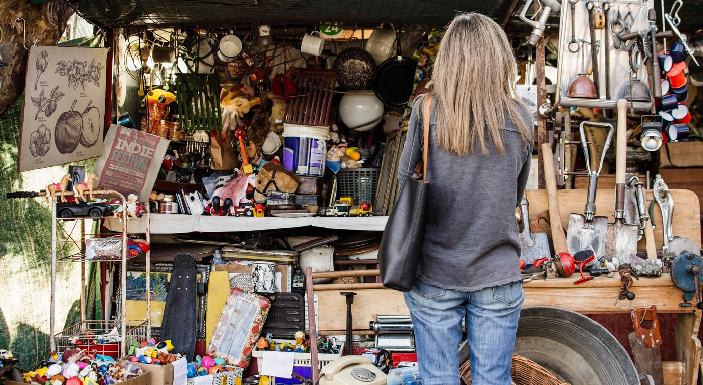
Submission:
[[[30,48],[18,171],[102,154],[107,64],[107,48]]]

